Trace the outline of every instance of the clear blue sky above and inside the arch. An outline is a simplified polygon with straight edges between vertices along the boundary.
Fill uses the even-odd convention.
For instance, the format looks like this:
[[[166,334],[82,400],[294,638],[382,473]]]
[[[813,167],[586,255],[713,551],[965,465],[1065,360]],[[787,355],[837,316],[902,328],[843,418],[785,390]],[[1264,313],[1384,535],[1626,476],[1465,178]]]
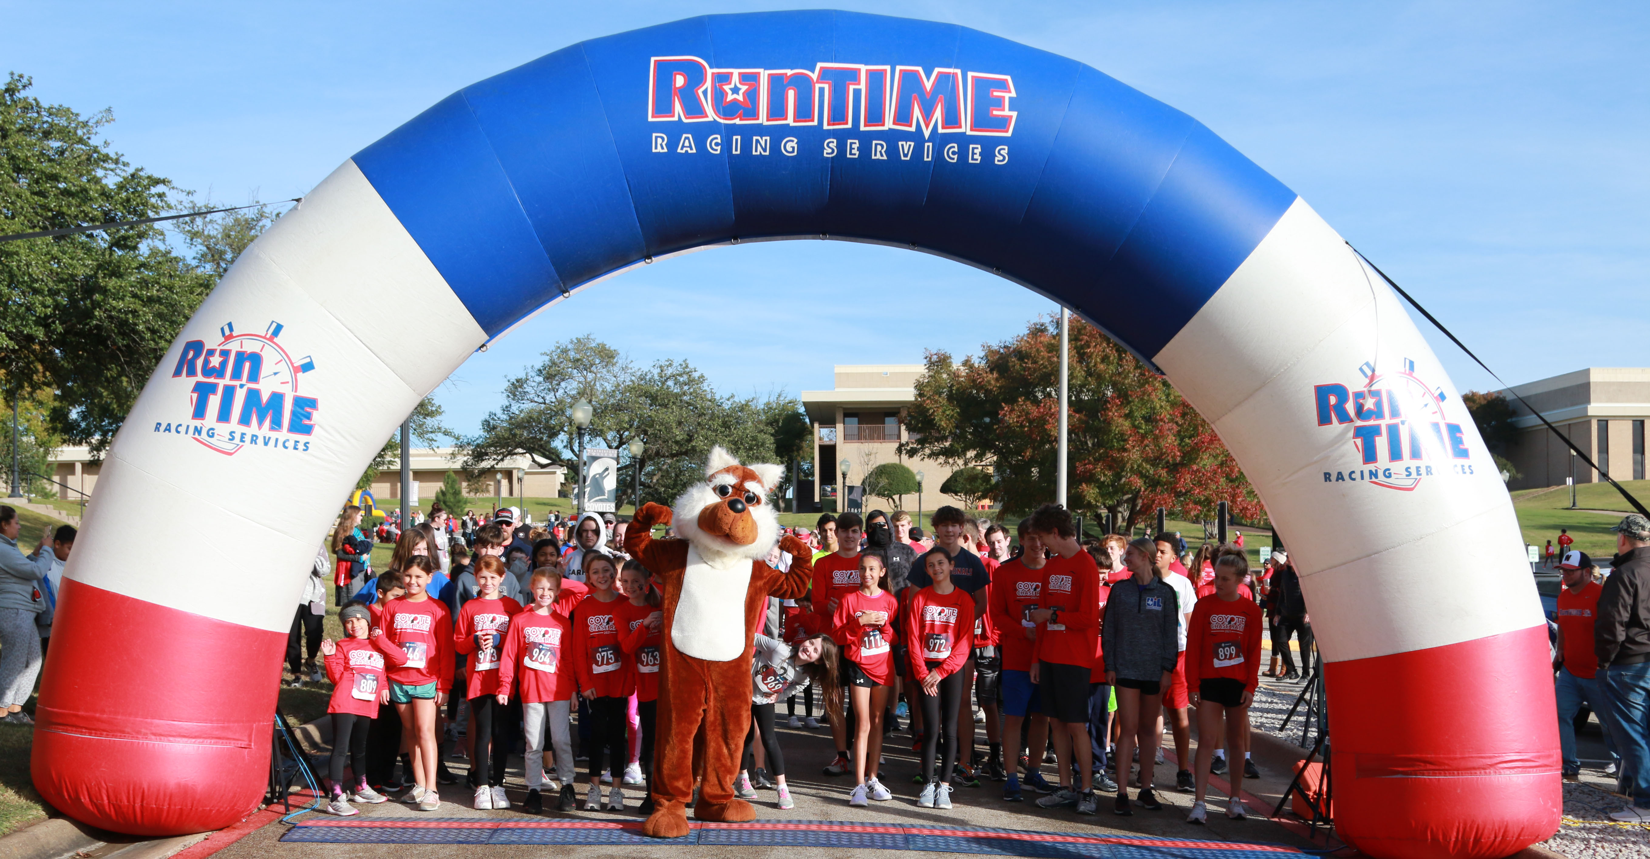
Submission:
[[[1307,198],[1508,383],[1643,366],[1650,343],[1650,7],[1637,3],[922,3],[1066,54],[1203,120]],[[129,160],[214,201],[305,193],[452,91],[564,45],[776,3],[18,3],[0,58],[35,92],[112,107]],[[771,331],[761,356],[718,322]],[[581,292],[437,391],[474,430],[505,379],[594,333],[728,392],[830,387],[1023,330],[1044,298],[845,242],[665,261]],[[754,325],[751,325],[754,323]],[[1264,333],[1257,333],[1264,336]],[[1493,381],[1432,336],[1457,386]]]

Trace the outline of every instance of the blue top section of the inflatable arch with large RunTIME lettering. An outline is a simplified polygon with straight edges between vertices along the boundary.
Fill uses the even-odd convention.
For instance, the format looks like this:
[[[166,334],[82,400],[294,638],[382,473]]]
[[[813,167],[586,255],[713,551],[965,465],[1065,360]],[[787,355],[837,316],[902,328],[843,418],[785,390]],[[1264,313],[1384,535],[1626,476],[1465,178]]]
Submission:
[[[810,125],[794,124],[808,107],[802,77],[789,112],[769,99],[780,124],[655,120],[653,58],[734,77],[870,69],[858,89],[840,86],[851,69],[813,87]],[[947,69],[954,114],[940,102]],[[992,92],[997,77],[1013,96]],[[660,79],[667,92],[676,81]],[[698,104],[741,89],[706,86]],[[936,127],[866,129],[893,94],[919,94],[916,115],[926,106]],[[683,114],[700,109],[680,96]],[[850,127],[825,127],[833,107],[850,109]],[[1011,134],[980,134],[1008,112]],[[960,130],[944,129],[957,119]],[[710,15],[573,45],[452,94],[355,162],[488,335],[645,257],[823,234],[995,270],[1153,356],[1295,199],[1191,117],[1089,66],[964,26],[846,12]]]

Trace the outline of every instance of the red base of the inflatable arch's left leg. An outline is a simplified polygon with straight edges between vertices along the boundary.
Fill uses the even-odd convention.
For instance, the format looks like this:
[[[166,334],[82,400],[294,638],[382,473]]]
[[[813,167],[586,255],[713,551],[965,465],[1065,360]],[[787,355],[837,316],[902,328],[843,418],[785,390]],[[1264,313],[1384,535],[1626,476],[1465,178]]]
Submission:
[[[35,790],[142,836],[221,829],[257,808],[285,635],[71,579],[61,598],[76,605],[58,615],[40,699],[74,709],[35,712]]]

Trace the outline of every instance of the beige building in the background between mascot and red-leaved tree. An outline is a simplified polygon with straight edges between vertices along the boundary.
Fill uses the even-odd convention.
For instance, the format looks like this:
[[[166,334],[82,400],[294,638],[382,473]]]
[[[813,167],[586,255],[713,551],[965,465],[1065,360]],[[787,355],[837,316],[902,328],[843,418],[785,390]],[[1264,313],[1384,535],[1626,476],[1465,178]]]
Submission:
[[[813,427],[813,496],[820,505],[838,495],[842,463],[848,462],[848,485],[858,486],[865,475],[884,462],[904,463],[922,478],[922,493],[906,495],[904,509],[934,513],[944,505],[962,501],[939,491],[952,468],[899,453],[899,442],[911,439],[906,414],[916,402],[916,383],[922,364],[837,364],[835,387],[804,391],[802,407]],[[808,508],[804,498],[802,511]],[[865,509],[889,509],[883,498],[866,498]]]

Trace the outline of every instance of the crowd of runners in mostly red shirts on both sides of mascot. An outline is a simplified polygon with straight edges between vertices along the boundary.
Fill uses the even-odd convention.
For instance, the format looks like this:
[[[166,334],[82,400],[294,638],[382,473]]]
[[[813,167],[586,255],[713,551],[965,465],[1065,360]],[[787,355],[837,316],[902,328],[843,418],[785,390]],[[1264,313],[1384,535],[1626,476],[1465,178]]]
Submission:
[[[449,757],[470,760],[475,808],[512,808],[512,749],[525,750],[523,811],[579,810],[576,762],[587,772],[584,810],[624,810],[624,788],[639,786],[637,808],[652,811],[658,589],[612,514],[521,519],[515,508],[488,521],[434,506],[375,570],[375,534],[358,508],[343,509],[289,650],[294,683],[320,674],[318,650],[333,684],[328,811],[389,796],[432,811],[439,786],[460,780]],[[1115,795],[1117,814],[1160,810],[1152,762],[1163,762],[1168,727],[1183,767],[1175,790],[1195,793],[1188,821],[1203,823],[1211,775],[1259,778],[1247,709],[1262,627],[1287,661],[1274,658],[1270,676],[1300,671],[1280,635],[1312,648],[1282,551],[1252,570],[1241,546],[1193,554],[1172,533],[1082,539],[1053,505],[1013,533],[952,506],[934,513],[932,536],[904,511],[825,514],[787,531],[817,549],[812,589],[771,600],[752,643],[752,727],[734,783],[746,800],[772,790],[780,810],[794,806],[782,724],[828,727],[837,755],[823,773],[845,778],[851,806],[893,800],[883,747],[909,742],[922,808],[952,808],[955,788],[995,782],[1003,801],[1081,814],[1096,813],[1099,795]],[[790,557],[776,549],[769,562]],[[310,631],[325,577],[342,641]],[[1196,758],[1193,707],[1208,739]],[[1249,814],[1236,790],[1224,813]]]

